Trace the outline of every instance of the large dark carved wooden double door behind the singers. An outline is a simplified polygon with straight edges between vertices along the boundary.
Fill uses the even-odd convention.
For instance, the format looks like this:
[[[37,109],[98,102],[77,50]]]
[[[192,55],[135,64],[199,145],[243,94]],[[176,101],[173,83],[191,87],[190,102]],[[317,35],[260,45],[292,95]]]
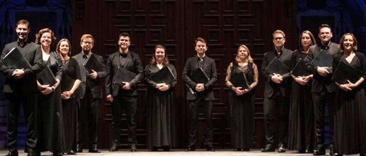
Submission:
[[[178,74],[174,89],[178,122],[178,148],[188,141],[188,109],[182,71],[188,58],[195,55],[194,39],[208,41],[207,55],[216,62],[218,82],[214,85],[212,118],[214,145],[230,148],[229,89],[225,86],[226,69],[234,61],[241,44],[249,47],[255,63],[261,68],[264,52],[273,49],[272,32],[281,29],[286,33],[285,46],[297,46],[296,12],[292,0],[75,0],[72,2],[72,55],[81,51],[80,38],[91,34],[95,38],[93,52],[108,58],[118,50],[117,38],[121,32],[131,35],[130,50],[140,55],[146,66],[157,44],[167,47],[169,62]],[[103,84],[104,85],[104,84]],[[263,118],[264,81],[259,77],[254,104],[254,148],[265,142]],[[136,114],[139,148],[146,143],[147,86],[138,85]],[[98,109],[99,148],[109,148],[112,142],[111,104],[103,101]],[[125,116],[125,114],[123,115]],[[123,118],[121,143],[127,142],[128,128]],[[205,120],[198,117],[196,147],[204,148]],[[87,128],[83,128],[87,131]],[[87,139],[87,133],[83,137]],[[85,148],[87,148],[87,141]]]

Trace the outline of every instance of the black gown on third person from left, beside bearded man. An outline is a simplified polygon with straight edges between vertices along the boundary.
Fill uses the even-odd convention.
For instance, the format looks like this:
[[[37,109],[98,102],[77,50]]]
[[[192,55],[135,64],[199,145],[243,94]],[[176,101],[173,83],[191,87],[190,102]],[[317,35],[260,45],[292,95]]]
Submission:
[[[63,76],[68,75],[73,79],[81,80],[79,64],[74,58],[62,61]],[[62,85],[62,84],[60,84]],[[65,133],[65,148],[64,152],[70,152],[71,149],[76,149],[76,119],[78,108],[78,89],[67,100],[62,99],[62,109],[64,117],[64,133]],[[76,151],[74,151],[76,152]]]

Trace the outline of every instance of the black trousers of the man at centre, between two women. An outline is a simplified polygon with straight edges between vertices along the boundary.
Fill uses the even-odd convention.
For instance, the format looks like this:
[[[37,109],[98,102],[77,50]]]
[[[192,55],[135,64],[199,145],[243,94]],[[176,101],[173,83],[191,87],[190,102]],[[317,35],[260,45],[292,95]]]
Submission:
[[[195,100],[188,100],[190,110],[190,130],[188,146],[195,145],[197,141],[197,125],[199,107],[203,108],[206,120],[206,146],[212,146],[213,142],[213,124],[211,119],[212,101],[206,101],[203,97],[197,97]]]

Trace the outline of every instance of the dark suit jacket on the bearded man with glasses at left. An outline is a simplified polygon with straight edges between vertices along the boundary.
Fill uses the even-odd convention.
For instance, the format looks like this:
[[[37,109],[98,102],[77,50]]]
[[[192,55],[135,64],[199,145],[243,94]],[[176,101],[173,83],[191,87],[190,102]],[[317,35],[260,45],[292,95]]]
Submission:
[[[101,83],[101,80],[107,76],[107,71],[105,69],[103,57],[98,54],[95,54],[95,53],[93,53],[92,55],[94,55],[97,58],[98,62],[101,63],[101,65],[103,66],[103,70],[100,72],[97,72],[98,77],[96,79],[90,78],[90,91],[91,91],[91,94],[93,95],[93,98],[103,98],[102,87],[101,87],[100,83]],[[78,61],[78,64],[79,64],[80,74],[81,74],[81,83],[80,83],[80,86],[78,87],[78,89],[79,89],[79,97],[83,98],[84,94],[85,94],[85,89],[86,89],[86,72],[87,72],[85,70],[85,67],[83,66],[83,64],[84,64],[83,52],[80,52],[79,54],[72,56],[72,58],[76,59],[76,61]]]

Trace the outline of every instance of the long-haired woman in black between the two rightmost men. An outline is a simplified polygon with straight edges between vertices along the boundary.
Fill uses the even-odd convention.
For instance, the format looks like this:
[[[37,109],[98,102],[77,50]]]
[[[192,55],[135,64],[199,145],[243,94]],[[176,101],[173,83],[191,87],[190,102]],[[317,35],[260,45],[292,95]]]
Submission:
[[[300,49],[292,54],[292,67],[299,59],[304,59],[309,47],[316,44],[310,31],[303,31]],[[296,153],[313,153],[315,145],[315,121],[313,101],[311,100],[311,79],[313,75],[295,77],[292,81],[290,99],[290,120],[288,126],[288,149],[297,149]],[[307,152],[306,152],[307,148]]]

